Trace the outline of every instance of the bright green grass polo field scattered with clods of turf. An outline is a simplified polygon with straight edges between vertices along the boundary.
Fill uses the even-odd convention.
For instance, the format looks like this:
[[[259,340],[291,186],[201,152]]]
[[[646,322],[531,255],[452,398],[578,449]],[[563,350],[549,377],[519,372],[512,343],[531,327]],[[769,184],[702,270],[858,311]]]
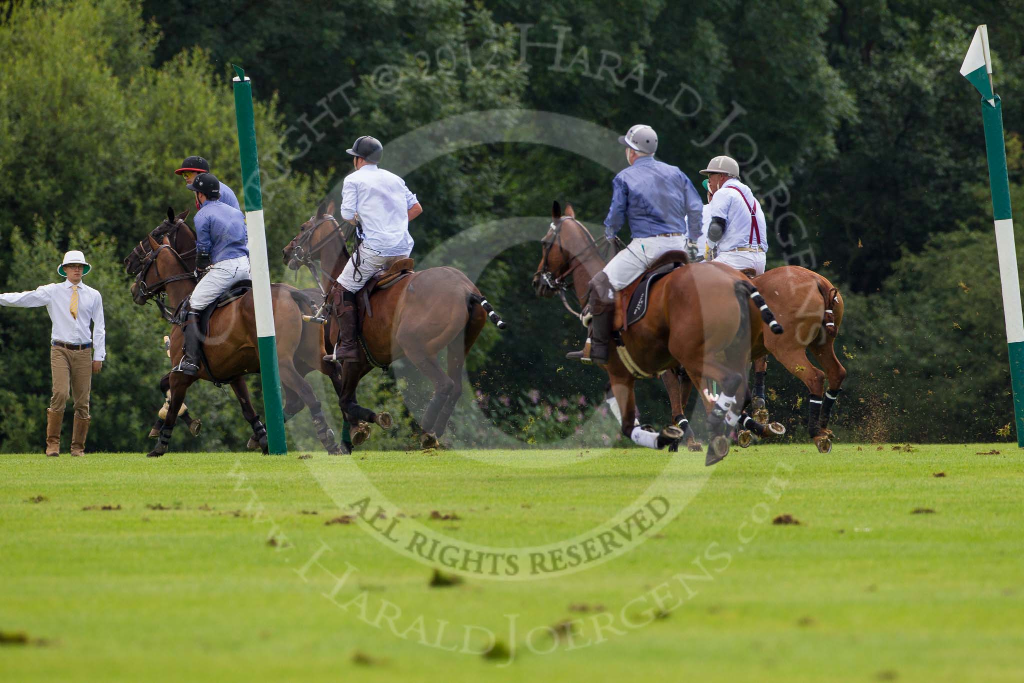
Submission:
[[[641,449],[467,455],[2,456],[0,679],[1024,679],[1014,446],[760,446],[710,476]],[[431,586],[368,524],[326,523],[361,473],[406,515],[380,528],[558,543],[670,464],[695,492],[678,515],[553,578]]]

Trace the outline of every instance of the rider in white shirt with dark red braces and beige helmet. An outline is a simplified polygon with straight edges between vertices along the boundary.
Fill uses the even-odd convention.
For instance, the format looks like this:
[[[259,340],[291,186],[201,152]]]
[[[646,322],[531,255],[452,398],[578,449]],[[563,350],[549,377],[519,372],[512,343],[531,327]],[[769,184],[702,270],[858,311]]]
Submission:
[[[723,155],[700,172],[708,176],[711,195],[708,246],[713,260],[752,278],[760,275],[768,253],[765,214],[751,188],[739,181],[739,164]]]

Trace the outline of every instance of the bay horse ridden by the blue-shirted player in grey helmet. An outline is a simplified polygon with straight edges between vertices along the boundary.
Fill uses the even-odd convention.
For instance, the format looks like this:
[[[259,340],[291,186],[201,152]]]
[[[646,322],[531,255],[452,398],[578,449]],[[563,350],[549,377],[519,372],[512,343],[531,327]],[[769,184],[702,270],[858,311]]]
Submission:
[[[562,215],[560,205],[554,203],[552,223],[542,246],[541,262],[532,279],[536,292],[553,296],[571,280],[577,296],[586,301],[590,279],[604,267],[605,261],[594,238],[575,219],[571,206]],[[762,330],[761,325],[751,322],[760,317],[776,335],[782,333],[782,328],[758,288],[738,271],[708,263],[689,263],[685,252],[669,252],[652,268],[673,262],[683,265],[650,287],[647,313],[643,317],[624,326],[626,306],[616,306],[612,327],[621,329],[621,343],[616,352],[610,354],[605,371],[623,416],[623,434],[649,447],[662,447],[665,443],[662,437],[670,433],[682,436],[682,430],[672,425],[655,440],[652,432],[645,434],[645,430],[632,423],[637,376],[654,377],[682,367],[691,378],[709,377],[719,382],[722,391],[710,412],[712,438],[705,460],[706,465],[714,465],[729,452],[729,440],[720,432],[736,425],[765,435],[784,432],[781,425],[772,425],[770,429],[758,425],[741,410],[746,394],[750,349]],[[579,276],[578,271],[582,271]],[[623,291],[621,296],[625,301],[635,287],[636,284]],[[669,385],[667,382],[666,386]],[[740,400],[736,400],[737,396]],[[671,387],[670,397],[673,412],[682,419],[685,404]]]

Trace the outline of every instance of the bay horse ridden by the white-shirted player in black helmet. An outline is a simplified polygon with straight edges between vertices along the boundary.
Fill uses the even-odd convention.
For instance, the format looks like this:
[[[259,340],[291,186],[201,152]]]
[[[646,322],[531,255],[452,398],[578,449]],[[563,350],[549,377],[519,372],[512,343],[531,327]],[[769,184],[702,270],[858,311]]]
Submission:
[[[282,250],[289,268],[297,270],[307,265],[314,278],[318,275],[325,295],[332,292],[350,257],[345,231],[334,217],[336,210],[333,200],[322,202],[316,214],[302,223],[299,232]],[[319,272],[314,263],[317,258]],[[327,311],[326,341],[330,342],[337,338],[338,321],[330,312],[333,308],[327,300],[325,307],[322,310]],[[423,432],[420,444],[423,449],[436,447],[462,395],[466,354],[487,319],[500,330],[506,327],[472,281],[450,266],[411,272],[387,289],[375,291],[370,297],[370,310],[361,311],[360,359],[339,364],[337,371],[341,377],[338,403],[346,419],[356,425],[353,442],[356,434],[365,434],[369,429],[368,423],[379,424],[379,416],[355,400],[359,380],[374,368],[386,368],[407,357],[434,385],[420,420]],[[333,348],[333,344],[328,346]],[[438,355],[445,348],[446,373],[438,362]]]

